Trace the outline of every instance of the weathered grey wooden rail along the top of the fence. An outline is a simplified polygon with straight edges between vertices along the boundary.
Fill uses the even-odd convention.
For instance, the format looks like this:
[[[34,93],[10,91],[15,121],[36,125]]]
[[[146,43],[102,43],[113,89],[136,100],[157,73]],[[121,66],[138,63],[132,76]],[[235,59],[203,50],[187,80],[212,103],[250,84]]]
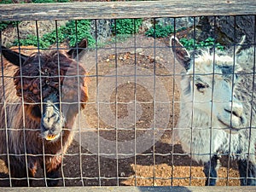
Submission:
[[[164,0],[0,5],[0,20],[79,20],[255,14],[255,0]]]

